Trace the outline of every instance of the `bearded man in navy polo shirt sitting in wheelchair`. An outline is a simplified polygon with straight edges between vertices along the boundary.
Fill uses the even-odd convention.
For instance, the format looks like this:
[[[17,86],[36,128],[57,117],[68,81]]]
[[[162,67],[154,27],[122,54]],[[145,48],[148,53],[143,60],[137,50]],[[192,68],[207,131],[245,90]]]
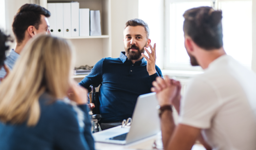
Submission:
[[[119,58],[98,61],[79,83],[88,90],[91,84],[100,85],[100,125],[103,130],[132,117],[138,96],[150,93],[152,81],[162,76],[156,66],[156,44],[152,47],[148,36],[147,23],[141,19],[129,20],[124,29],[125,52],[121,52]],[[150,47],[151,53],[146,47]]]

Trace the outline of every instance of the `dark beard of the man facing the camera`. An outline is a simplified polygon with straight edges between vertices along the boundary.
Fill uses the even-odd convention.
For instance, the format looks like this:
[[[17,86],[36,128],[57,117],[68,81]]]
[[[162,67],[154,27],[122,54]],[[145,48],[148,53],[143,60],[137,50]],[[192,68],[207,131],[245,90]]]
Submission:
[[[137,47],[136,45],[130,45],[129,47],[125,47],[125,53],[127,54],[127,58],[128,60],[137,60],[139,59],[142,55],[142,53],[144,53],[144,47],[146,47],[147,43],[145,44],[145,46],[143,46],[142,49],[139,49],[139,47]],[[131,51],[130,49],[137,49],[138,51]]]

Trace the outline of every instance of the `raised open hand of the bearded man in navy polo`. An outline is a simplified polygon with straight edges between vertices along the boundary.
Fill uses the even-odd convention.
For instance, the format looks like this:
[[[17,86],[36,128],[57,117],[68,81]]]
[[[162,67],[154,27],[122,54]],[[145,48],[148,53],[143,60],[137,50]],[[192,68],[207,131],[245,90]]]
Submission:
[[[148,53],[147,57],[145,54],[142,53],[142,56],[147,60],[147,71],[149,75],[154,75],[156,71],[156,44],[154,44],[154,47],[152,47],[151,44],[149,44],[149,47],[151,49],[151,53],[148,51],[146,47],[144,47],[145,51]]]

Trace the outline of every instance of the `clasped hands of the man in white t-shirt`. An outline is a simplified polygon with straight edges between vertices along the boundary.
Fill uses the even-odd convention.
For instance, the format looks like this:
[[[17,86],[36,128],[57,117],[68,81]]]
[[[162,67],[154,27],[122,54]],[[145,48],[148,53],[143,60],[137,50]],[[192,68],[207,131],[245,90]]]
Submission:
[[[156,81],[154,81],[152,84],[153,87],[151,88],[151,91],[157,93],[156,96],[160,106],[176,105],[179,107],[179,93],[181,89],[179,81],[175,81],[170,79],[168,76],[164,76],[164,78],[157,77]]]

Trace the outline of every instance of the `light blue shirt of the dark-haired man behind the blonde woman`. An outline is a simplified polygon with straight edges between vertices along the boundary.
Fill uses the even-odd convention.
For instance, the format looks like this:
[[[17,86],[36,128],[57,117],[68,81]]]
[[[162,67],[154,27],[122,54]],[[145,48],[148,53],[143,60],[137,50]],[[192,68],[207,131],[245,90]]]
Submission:
[[[19,57],[19,54],[16,53],[14,51],[14,49],[12,49],[10,51],[10,55],[6,57],[4,64],[7,65],[7,67],[12,70],[18,57]],[[3,78],[5,76],[5,74],[6,74],[6,71],[5,71],[4,67],[2,67],[0,70],[0,78]]]

